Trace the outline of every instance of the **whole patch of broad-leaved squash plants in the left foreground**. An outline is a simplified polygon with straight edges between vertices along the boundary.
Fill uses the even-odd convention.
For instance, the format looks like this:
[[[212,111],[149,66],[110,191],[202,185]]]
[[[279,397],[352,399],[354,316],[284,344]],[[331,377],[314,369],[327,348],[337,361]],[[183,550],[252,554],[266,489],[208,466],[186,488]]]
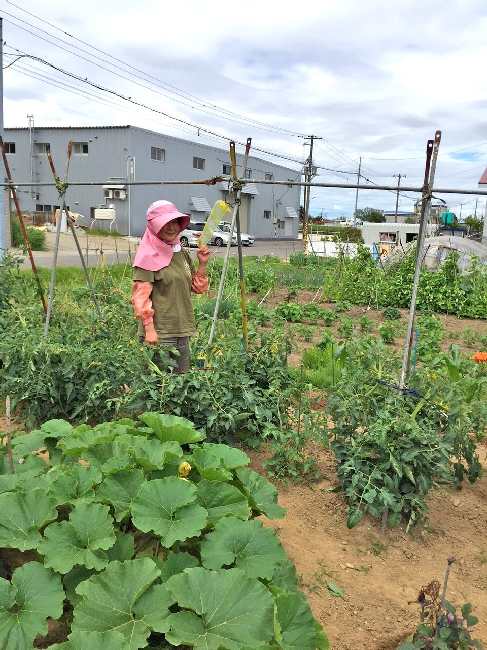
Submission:
[[[15,474],[0,448],[0,548],[25,553],[0,578],[2,648],[32,648],[61,617],[68,639],[42,647],[328,648],[256,519],[284,516],[277,490],[244,452],[203,438],[184,418],[144,413],[46,422],[14,439]],[[44,447],[47,464],[32,453]]]

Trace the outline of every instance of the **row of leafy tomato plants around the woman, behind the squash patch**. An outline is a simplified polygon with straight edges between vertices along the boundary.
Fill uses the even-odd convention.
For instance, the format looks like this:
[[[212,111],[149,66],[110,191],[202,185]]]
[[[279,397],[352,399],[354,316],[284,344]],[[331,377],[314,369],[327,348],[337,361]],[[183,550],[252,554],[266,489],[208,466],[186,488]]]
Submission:
[[[94,272],[99,320],[78,276],[60,278],[44,338],[35,287],[13,262],[8,264],[0,269],[0,285],[6,287],[0,309],[0,393],[11,395],[12,408],[27,426],[57,417],[97,422],[152,408],[191,418],[214,441],[238,436],[255,444],[285,419],[291,377],[282,333],[262,342],[249,328],[250,349],[243,354],[240,316],[230,311],[208,347],[210,321],[197,309],[200,337],[192,343],[192,362],[197,365],[201,352],[211,370],[173,375],[169,363],[167,372],[154,365],[151,346],[137,342],[130,279],[109,270]],[[260,320],[270,318],[263,309],[254,313]]]

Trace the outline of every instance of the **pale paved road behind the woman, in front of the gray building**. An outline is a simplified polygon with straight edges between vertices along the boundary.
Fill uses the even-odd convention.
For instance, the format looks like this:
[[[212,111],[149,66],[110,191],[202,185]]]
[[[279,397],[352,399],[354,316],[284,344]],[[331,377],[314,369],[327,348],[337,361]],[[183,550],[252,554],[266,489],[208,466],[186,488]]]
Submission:
[[[78,240],[87,266],[100,266],[102,261],[105,264],[125,263],[133,260],[139,238],[114,238],[100,237],[98,235],[86,235],[84,232],[78,233]],[[46,233],[47,251],[34,251],[34,261],[36,266],[52,269],[54,259],[55,233]],[[211,252],[217,257],[225,255],[225,248],[210,247]],[[244,246],[242,251],[244,255],[274,255],[282,260],[289,260],[293,252],[302,250],[302,241],[300,240],[258,240],[253,246]],[[232,246],[230,250],[231,257],[236,257],[237,247]],[[196,258],[196,249],[191,249],[191,256]],[[76,243],[73,235],[69,233],[61,234],[59,240],[59,250],[57,257],[57,266],[82,266],[78,254]],[[22,268],[30,268],[30,261],[25,256]]]

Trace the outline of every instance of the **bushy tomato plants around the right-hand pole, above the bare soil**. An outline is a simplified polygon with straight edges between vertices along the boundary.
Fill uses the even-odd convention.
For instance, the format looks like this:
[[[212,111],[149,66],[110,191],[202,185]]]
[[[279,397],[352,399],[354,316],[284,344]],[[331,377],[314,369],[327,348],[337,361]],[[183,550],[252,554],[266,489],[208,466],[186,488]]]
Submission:
[[[455,346],[413,375],[401,394],[399,360],[381,341],[364,337],[346,350],[327,410],[348,526],[370,512],[389,513],[391,526],[405,517],[409,528],[427,512],[434,482],[481,476],[472,434],[479,440],[485,435],[485,377]]]

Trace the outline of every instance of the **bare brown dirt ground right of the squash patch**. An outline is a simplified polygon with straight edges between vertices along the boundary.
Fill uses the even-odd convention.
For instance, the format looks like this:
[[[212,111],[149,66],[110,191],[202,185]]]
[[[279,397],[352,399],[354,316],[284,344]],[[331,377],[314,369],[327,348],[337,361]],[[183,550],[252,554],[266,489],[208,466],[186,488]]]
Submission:
[[[452,556],[447,599],[472,604],[479,618],[474,638],[487,644],[487,478],[434,491],[426,525],[408,534],[404,526],[382,534],[380,522],[368,516],[349,530],[343,496],[329,491],[337,485],[333,454],[313,453],[327,479],[279,485],[286,517],[266,523],[295,563],[332,650],[395,650],[419,620],[419,607],[409,601],[432,580],[443,585]],[[487,446],[480,457],[487,470]],[[262,472],[262,460],[253,455],[256,471]],[[343,589],[343,600],[329,594],[326,580]]]

